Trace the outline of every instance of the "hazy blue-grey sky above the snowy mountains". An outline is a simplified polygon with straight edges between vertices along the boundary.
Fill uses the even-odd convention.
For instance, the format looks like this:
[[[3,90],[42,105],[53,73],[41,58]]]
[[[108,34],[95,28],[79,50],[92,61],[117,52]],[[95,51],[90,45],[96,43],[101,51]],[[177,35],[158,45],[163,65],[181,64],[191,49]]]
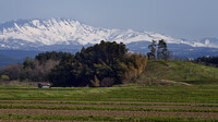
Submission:
[[[0,23],[50,17],[175,38],[218,37],[218,0],[0,0]]]

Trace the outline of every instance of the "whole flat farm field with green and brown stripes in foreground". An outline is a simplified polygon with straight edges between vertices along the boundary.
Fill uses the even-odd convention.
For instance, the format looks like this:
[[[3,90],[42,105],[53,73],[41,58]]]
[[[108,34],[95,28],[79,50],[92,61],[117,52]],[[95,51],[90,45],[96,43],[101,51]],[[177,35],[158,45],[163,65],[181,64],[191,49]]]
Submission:
[[[218,122],[218,86],[0,87],[0,122]]]

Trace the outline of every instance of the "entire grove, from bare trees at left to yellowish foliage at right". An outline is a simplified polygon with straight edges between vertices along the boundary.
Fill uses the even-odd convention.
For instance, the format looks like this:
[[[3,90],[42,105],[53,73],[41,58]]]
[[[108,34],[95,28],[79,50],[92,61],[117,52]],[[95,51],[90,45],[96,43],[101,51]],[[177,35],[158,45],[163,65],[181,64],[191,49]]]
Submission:
[[[68,52],[39,53],[35,59],[5,66],[0,74],[10,80],[50,82],[53,86],[112,86],[133,82],[145,69],[147,58],[130,53],[124,44],[101,41]]]

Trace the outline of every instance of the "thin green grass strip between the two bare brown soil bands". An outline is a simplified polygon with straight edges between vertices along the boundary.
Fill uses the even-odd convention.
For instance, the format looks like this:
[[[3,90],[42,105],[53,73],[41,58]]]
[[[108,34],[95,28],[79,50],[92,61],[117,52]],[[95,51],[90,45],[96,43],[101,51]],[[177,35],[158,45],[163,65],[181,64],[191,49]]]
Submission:
[[[50,109],[50,110],[117,110],[117,111],[165,111],[165,112],[218,112],[217,109],[156,109],[156,108],[123,108],[123,107],[63,107],[63,106],[17,106],[0,105],[0,109]]]

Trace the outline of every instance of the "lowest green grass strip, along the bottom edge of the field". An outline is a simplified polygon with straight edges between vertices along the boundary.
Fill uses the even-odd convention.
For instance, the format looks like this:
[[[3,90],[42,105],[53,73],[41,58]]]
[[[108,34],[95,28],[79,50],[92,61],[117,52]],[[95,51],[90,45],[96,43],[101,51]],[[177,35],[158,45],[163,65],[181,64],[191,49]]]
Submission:
[[[57,117],[57,115],[17,115],[7,114],[0,115],[0,120],[60,120],[60,121],[134,121],[134,122],[218,122],[218,120],[180,118],[180,117]]]

